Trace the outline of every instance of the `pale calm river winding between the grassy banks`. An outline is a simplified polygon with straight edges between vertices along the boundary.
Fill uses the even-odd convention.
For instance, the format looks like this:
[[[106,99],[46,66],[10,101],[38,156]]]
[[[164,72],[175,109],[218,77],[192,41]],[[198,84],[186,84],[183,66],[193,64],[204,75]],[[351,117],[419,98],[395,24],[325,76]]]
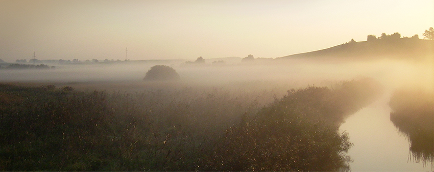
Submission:
[[[352,114],[340,127],[354,146],[349,150],[352,171],[432,171],[428,162],[415,162],[404,134],[390,121],[390,94]]]

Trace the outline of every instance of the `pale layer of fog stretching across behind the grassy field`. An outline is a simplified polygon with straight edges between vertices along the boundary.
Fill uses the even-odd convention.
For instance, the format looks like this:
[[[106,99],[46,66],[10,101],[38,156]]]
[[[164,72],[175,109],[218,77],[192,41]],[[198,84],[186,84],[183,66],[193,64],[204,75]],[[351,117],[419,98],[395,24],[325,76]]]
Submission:
[[[142,81],[154,65],[167,65],[181,76],[181,85],[258,83],[288,87],[328,86],[335,81],[372,77],[385,88],[419,87],[432,89],[432,63],[396,60],[371,62],[321,62],[286,60],[267,64],[185,65],[128,62],[96,65],[57,65],[47,70],[1,70],[1,82],[95,83],[118,82],[147,85]],[[288,88],[290,89],[290,88]]]

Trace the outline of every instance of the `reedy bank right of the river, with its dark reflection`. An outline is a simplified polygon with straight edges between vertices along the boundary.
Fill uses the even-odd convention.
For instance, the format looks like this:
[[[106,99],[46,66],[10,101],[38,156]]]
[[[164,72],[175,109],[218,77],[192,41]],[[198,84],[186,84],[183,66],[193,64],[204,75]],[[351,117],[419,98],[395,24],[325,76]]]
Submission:
[[[434,164],[434,94],[422,90],[396,91],[389,103],[390,120],[407,136],[409,160]]]

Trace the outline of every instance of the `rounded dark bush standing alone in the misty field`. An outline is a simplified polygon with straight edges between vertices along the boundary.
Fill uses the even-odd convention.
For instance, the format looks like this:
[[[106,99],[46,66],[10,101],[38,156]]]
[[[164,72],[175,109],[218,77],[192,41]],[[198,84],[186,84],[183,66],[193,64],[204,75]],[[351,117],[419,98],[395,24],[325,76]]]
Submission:
[[[157,81],[157,80],[179,80],[180,77],[175,69],[164,66],[156,65],[148,70],[143,80],[146,81]]]

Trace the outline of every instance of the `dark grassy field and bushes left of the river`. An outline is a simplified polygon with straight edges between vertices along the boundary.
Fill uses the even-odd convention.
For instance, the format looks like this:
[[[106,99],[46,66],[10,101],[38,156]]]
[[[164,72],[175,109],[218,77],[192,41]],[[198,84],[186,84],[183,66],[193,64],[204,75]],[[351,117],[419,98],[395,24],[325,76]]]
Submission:
[[[263,106],[244,93],[144,93],[0,84],[0,169],[345,170],[345,116],[372,102],[370,79],[290,90]]]

